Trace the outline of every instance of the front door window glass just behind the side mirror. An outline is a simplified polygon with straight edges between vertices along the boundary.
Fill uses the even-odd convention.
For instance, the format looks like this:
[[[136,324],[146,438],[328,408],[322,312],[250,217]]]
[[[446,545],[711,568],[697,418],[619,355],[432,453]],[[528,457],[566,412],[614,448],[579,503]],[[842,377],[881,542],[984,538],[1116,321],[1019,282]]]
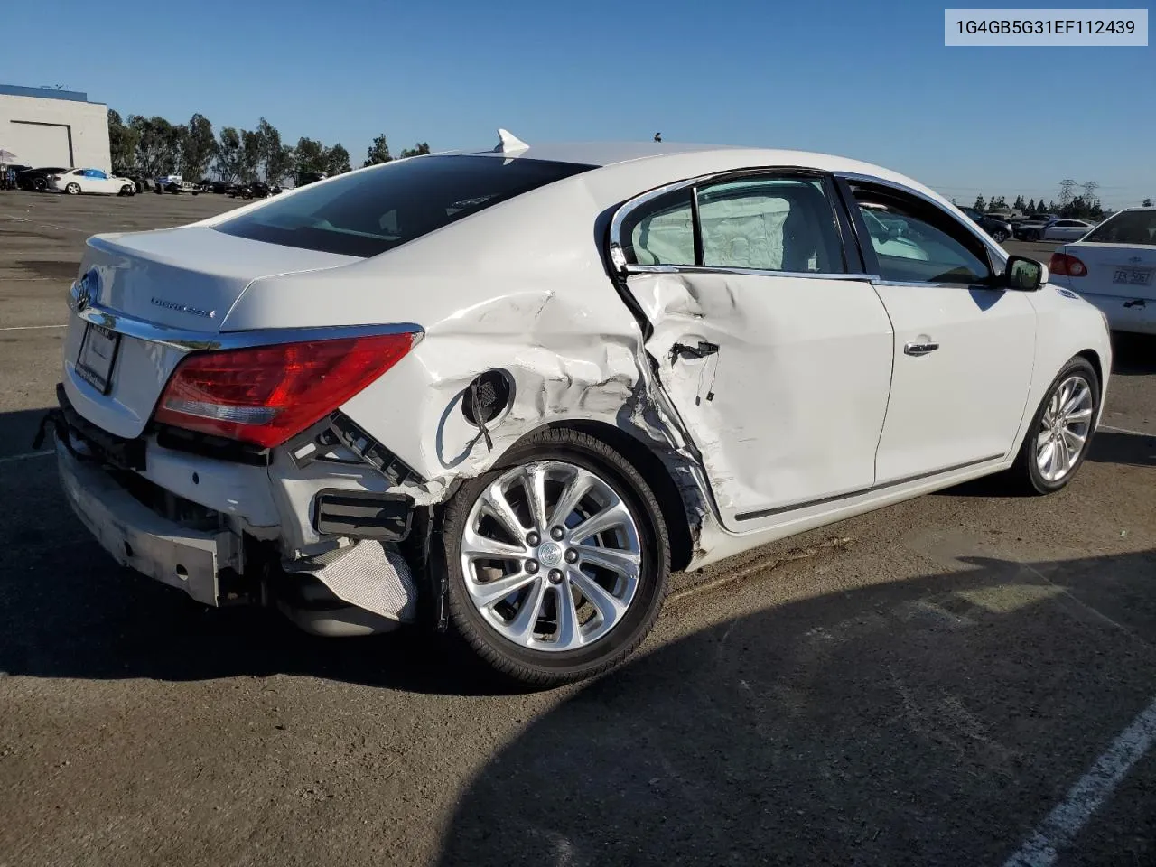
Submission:
[[[946,210],[885,187],[852,191],[883,280],[976,283],[992,275],[983,242]]]

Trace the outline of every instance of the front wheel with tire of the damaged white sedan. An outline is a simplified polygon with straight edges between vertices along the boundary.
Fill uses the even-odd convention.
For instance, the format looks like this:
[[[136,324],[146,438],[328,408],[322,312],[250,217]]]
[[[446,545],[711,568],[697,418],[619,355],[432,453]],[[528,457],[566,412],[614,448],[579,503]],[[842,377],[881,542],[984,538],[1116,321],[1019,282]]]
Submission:
[[[1082,356],[1057,375],[1011,467],[1013,481],[1029,494],[1052,494],[1066,487],[1088,457],[1099,415],[1099,377]]]

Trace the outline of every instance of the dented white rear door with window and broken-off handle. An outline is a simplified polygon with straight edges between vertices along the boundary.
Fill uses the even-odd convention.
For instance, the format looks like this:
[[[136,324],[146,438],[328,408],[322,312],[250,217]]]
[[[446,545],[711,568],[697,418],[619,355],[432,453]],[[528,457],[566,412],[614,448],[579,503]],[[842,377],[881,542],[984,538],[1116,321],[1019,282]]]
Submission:
[[[615,216],[612,257],[732,531],[874,483],[891,328],[832,191],[766,170]]]

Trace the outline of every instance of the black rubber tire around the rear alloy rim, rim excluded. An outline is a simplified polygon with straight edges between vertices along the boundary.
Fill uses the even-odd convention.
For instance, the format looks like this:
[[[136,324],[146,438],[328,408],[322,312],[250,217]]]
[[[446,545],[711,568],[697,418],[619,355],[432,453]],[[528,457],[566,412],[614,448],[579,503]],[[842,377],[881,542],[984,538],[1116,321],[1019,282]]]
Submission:
[[[442,514],[443,543],[439,548],[443,562],[439,565],[446,570],[450,615],[458,631],[483,657],[487,654],[483,647],[479,647],[479,643],[510,660],[518,668],[529,669],[533,674],[549,679],[551,683],[593,674],[625,657],[650,631],[666,596],[669,544],[661,511],[637,470],[613,450],[607,449],[617,461],[621,461],[621,466],[616,466],[617,461],[614,458],[600,451],[596,446],[587,447],[578,439],[551,442],[548,438],[535,438],[534,442],[516,446],[503,455],[499,466],[462,484]],[[519,465],[541,460],[572,464],[606,481],[630,510],[638,529],[639,550],[643,555],[638,587],[625,617],[590,647],[573,651],[534,651],[498,635],[470,600],[461,569],[461,533],[474,502],[503,473]],[[517,676],[518,673],[514,674]]]

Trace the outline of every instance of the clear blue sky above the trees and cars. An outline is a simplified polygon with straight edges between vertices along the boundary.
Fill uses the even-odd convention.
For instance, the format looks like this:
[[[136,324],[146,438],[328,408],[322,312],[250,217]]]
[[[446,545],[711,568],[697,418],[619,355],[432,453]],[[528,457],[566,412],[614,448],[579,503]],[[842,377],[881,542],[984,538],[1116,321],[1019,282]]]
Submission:
[[[943,3],[39,0],[2,18],[2,83],[218,128],[264,114],[355,164],[379,132],[397,151],[661,131],[853,156],[961,203],[1059,198],[1064,178],[1116,207],[1156,197],[1156,49],[948,49]]]

